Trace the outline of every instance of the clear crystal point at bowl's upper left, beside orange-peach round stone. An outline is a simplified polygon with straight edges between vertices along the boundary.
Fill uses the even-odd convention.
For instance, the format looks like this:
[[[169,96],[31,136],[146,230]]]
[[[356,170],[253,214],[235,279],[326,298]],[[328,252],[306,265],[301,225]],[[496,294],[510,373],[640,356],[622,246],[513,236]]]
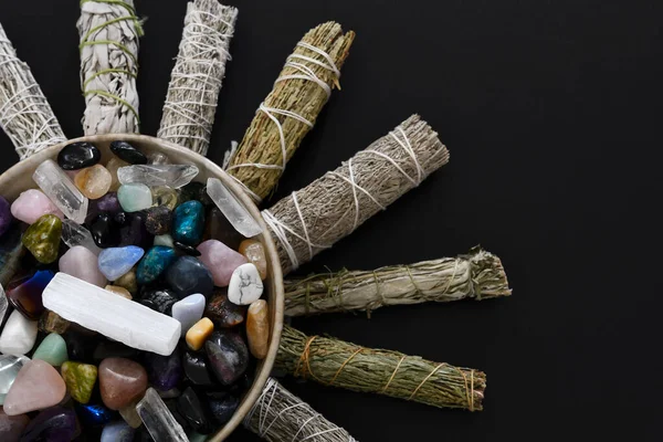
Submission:
[[[90,201],[55,161],[48,159],[42,162],[32,179],[66,218],[78,224],[85,222]]]

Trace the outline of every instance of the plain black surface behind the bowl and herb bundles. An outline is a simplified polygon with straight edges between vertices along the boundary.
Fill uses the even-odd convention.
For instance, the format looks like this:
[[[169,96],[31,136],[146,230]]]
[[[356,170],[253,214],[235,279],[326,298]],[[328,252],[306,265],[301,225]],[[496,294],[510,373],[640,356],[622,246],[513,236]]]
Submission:
[[[2,0],[0,21],[69,137],[82,135],[77,1]],[[420,113],[451,162],[302,273],[498,254],[511,298],[297,319],[485,370],[485,410],[285,385],[359,441],[660,440],[660,1],[241,1],[211,158],[241,139],[295,43],[358,33],[281,181],[298,189]],[[155,135],[183,0],[138,0],[143,133]],[[15,161],[0,137],[2,169]],[[233,441],[257,440],[244,430]]]

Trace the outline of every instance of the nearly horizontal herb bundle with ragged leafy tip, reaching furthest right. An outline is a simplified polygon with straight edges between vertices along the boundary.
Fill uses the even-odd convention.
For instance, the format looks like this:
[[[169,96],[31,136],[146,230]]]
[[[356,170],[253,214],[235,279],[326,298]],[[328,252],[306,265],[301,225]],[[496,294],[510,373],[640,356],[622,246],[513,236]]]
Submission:
[[[466,255],[393,265],[375,271],[347,271],[286,280],[285,314],[367,311],[388,305],[477,301],[509,296],[497,256],[480,248]]]

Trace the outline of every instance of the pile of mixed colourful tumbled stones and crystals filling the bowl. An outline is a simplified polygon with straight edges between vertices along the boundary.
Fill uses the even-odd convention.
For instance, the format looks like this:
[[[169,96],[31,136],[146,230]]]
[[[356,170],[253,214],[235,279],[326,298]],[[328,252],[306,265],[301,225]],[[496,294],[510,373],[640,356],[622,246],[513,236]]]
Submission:
[[[203,440],[266,357],[260,224],[196,166],[110,150],[0,197],[1,441]]]

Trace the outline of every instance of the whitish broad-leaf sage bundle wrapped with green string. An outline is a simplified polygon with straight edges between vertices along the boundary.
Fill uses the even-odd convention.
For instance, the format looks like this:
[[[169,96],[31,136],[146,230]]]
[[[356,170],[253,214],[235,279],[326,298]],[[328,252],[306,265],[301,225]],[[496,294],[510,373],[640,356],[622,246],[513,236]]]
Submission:
[[[85,135],[139,131],[138,38],[134,0],[81,0],[81,87]]]

